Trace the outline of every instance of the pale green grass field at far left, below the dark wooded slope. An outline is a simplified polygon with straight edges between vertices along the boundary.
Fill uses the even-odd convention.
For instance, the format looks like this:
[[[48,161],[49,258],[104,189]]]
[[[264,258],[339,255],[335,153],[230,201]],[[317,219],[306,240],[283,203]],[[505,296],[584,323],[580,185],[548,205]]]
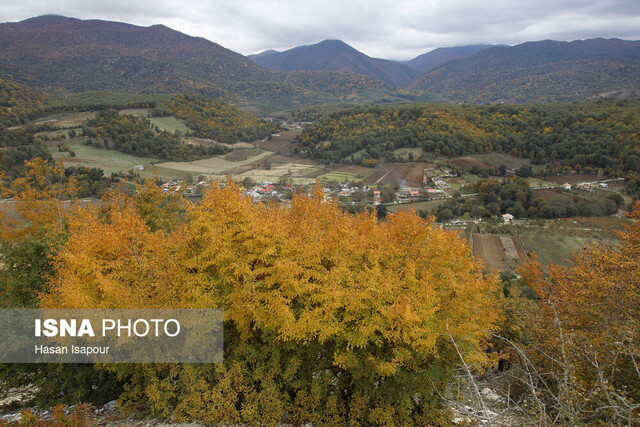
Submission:
[[[158,159],[151,157],[138,157],[115,150],[91,148],[79,142],[69,143],[69,145],[76,153],[76,157],[71,157],[67,152],[59,152],[56,147],[49,147],[53,158],[62,161],[65,167],[88,166],[100,168],[105,174],[111,174],[112,172],[126,172],[135,165],[149,165],[151,162],[158,161]]]

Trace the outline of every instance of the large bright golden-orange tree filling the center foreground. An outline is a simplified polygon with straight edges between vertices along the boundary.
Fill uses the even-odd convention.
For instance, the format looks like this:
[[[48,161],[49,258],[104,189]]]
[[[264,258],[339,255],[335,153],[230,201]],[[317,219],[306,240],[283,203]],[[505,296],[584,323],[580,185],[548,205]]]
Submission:
[[[122,196],[70,220],[41,301],[224,309],[222,364],[108,366],[125,406],[211,423],[446,425],[439,393],[458,351],[486,361],[495,278],[430,220],[381,223],[323,199],[255,204],[228,183],[162,230]]]

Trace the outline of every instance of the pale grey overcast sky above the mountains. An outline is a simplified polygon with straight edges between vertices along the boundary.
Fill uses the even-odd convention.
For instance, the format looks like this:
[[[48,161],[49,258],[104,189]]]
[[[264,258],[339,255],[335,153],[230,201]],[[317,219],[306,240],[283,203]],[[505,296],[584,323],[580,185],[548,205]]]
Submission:
[[[411,59],[436,47],[640,40],[640,0],[0,0],[0,21],[57,14],[164,24],[244,55],[341,39]]]

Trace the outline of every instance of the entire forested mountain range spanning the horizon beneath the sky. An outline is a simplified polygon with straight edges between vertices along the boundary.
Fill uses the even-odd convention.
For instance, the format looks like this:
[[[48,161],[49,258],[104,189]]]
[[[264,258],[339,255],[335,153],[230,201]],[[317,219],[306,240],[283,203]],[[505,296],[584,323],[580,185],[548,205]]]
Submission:
[[[277,111],[314,103],[434,99],[429,94],[468,103],[573,101],[640,89],[639,41],[442,48],[414,58],[413,66],[424,67],[416,64],[425,58],[445,62],[431,62],[427,67],[433,68],[419,74],[340,40],[250,59],[161,24],[60,15],[0,24],[0,77],[54,92],[197,92]]]

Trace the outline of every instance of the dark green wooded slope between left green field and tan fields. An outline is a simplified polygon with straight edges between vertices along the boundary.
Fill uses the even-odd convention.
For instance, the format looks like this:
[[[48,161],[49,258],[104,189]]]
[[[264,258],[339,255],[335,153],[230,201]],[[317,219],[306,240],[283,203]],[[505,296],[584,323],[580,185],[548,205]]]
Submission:
[[[119,114],[116,110],[99,111],[82,132],[90,138],[88,145],[164,160],[190,161],[229,151],[217,144],[209,147],[187,144],[179,132],[159,130],[149,119]],[[101,138],[102,142],[93,138]]]

